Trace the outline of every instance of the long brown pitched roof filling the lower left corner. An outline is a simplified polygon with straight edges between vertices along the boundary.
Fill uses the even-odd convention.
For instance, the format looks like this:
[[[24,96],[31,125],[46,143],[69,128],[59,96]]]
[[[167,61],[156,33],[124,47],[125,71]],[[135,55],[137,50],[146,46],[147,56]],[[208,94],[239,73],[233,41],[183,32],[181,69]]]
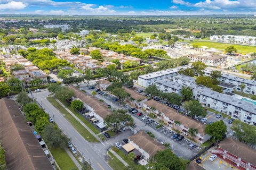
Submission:
[[[0,140],[7,169],[53,169],[14,100],[0,99]]]

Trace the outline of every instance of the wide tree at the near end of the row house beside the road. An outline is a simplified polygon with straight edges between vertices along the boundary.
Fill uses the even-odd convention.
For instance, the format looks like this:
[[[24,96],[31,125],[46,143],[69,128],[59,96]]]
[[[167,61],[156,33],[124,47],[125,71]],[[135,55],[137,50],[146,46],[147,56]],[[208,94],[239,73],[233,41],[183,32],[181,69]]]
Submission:
[[[116,133],[119,132],[126,125],[130,125],[133,123],[133,118],[131,115],[127,114],[123,109],[117,109],[113,111],[113,114],[107,115],[104,123],[108,127],[112,127]]]

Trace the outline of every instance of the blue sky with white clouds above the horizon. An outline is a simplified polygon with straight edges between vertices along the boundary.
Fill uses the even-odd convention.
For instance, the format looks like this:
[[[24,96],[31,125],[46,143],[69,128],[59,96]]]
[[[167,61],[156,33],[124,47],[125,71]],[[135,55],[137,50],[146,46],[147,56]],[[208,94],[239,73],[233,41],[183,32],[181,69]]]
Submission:
[[[0,14],[256,15],[256,0],[0,0]]]

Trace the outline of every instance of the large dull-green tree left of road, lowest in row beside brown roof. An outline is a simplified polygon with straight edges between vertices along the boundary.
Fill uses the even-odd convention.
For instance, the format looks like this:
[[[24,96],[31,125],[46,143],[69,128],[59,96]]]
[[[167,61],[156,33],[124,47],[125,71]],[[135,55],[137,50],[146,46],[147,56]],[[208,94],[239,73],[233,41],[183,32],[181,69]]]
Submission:
[[[54,124],[48,124],[42,131],[42,137],[50,148],[65,148],[69,139]]]

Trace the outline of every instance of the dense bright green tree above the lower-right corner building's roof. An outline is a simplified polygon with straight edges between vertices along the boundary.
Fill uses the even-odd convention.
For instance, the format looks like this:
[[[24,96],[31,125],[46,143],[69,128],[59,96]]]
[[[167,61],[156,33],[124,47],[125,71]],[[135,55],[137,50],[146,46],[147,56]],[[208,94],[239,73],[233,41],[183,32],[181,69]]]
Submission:
[[[218,146],[218,142],[223,138],[226,132],[227,126],[222,120],[212,124],[207,124],[205,128],[205,133],[212,137],[215,146]]]

